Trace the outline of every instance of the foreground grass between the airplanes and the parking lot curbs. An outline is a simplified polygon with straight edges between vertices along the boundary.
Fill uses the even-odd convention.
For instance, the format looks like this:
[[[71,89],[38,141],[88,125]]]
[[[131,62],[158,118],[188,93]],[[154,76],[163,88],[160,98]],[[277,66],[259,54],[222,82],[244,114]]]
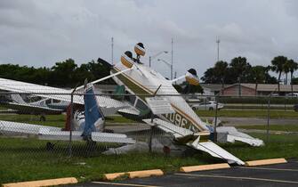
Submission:
[[[253,135],[266,140],[265,134]],[[75,176],[84,182],[101,180],[104,173],[152,168],[171,173],[181,166],[222,162],[201,152],[189,157],[165,157],[147,152],[105,156],[98,151],[94,154],[83,142],[74,145],[74,156],[68,158],[67,143],[57,144],[53,151],[45,150],[44,145],[44,141],[35,139],[0,138],[0,183],[67,176]],[[270,142],[260,148],[244,143],[221,146],[242,160],[298,157],[297,135],[272,134]]]

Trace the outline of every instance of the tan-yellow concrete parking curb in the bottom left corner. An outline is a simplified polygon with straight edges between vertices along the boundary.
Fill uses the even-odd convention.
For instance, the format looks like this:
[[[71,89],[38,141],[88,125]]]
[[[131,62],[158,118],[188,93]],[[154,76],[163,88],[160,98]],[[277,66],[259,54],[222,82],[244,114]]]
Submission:
[[[58,179],[48,179],[39,181],[29,181],[20,183],[4,183],[3,187],[38,187],[38,186],[55,186],[61,184],[77,183],[75,177],[58,178]]]

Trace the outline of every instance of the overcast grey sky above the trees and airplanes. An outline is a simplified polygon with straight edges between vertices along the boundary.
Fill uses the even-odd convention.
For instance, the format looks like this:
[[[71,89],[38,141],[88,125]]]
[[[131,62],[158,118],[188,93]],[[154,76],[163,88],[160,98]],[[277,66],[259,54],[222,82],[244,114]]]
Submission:
[[[199,77],[217,59],[245,56],[269,65],[278,55],[298,61],[298,1],[295,0],[1,0],[0,63],[52,67],[111,58],[114,63],[142,42],[146,55],[171,52],[177,76],[197,69]],[[152,67],[165,77],[171,53]],[[296,73],[297,74],[297,73]],[[298,75],[298,74],[297,74]]]

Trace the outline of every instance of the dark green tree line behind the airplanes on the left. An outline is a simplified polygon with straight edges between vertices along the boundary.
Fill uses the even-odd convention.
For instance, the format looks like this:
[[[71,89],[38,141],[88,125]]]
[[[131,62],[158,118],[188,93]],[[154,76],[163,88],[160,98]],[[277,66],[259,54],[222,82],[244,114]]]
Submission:
[[[102,65],[100,59],[81,65],[77,65],[74,60],[68,59],[56,62],[52,68],[35,68],[14,64],[0,65],[0,77],[57,87],[83,85],[85,78],[88,81],[93,81],[106,76],[109,76],[109,67]],[[102,83],[114,84],[110,78]]]

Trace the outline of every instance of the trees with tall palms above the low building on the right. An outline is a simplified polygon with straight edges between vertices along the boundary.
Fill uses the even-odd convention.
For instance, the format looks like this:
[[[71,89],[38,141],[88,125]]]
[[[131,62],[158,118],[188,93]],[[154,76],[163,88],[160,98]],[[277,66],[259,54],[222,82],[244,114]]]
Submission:
[[[254,83],[255,90],[258,84],[278,84],[280,92],[280,77],[285,73],[285,84],[287,85],[287,75],[290,73],[291,88],[298,84],[298,78],[294,78],[294,71],[298,69],[298,63],[285,56],[274,57],[268,66],[252,66],[246,57],[236,57],[228,63],[227,61],[217,61],[210,69],[206,69],[201,79],[206,84],[221,84],[222,89],[225,84]],[[270,71],[278,73],[278,78],[270,76]]]

